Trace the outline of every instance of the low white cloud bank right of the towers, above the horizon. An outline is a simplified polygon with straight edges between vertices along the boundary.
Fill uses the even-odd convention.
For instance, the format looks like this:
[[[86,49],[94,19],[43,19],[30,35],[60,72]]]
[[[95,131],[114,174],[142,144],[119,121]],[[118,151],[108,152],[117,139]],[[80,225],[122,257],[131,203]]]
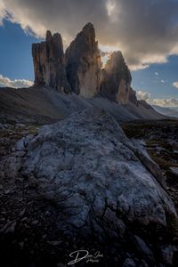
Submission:
[[[150,105],[157,105],[160,107],[172,107],[172,108],[178,107],[178,99],[176,98],[154,99],[151,97],[150,93],[145,93],[142,90],[136,91],[136,95],[139,100],[145,100],[148,103],[150,103]]]

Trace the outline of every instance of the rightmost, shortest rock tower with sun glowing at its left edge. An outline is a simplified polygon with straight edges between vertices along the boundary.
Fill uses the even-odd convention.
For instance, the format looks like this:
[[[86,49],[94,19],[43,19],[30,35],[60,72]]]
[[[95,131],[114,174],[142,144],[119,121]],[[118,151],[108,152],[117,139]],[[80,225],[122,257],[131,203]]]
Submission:
[[[132,77],[122,53],[120,51],[112,53],[105,69],[102,70],[101,96],[120,104],[127,104],[131,80]]]

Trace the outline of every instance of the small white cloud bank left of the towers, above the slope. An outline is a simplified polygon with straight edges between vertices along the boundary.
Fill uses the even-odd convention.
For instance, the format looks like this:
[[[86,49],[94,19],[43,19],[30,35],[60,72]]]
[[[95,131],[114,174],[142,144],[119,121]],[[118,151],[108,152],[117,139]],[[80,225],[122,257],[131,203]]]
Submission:
[[[33,82],[25,79],[15,79],[11,80],[8,77],[3,77],[0,75],[0,87],[12,87],[12,88],[24,88],[32,86]]]

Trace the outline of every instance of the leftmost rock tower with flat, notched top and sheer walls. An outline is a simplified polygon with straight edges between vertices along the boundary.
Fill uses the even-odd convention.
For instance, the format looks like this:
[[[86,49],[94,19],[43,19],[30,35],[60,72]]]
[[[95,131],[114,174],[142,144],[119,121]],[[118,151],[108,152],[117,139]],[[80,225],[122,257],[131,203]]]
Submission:
[[[56,33],[52,36],[51,31],[47,30],[44,42],[32,44],[32,55],[35,85],[47,85],[69,93],[61,35]]]

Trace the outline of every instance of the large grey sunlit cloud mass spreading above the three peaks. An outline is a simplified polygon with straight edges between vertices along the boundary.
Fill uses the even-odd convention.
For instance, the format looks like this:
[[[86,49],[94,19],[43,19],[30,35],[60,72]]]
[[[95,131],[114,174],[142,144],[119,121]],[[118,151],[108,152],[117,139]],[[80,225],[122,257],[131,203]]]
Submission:
[[[44,36],[61,32],[69,44],[91,21],[101,45],[117,47],[130,69],[145,69],[178,54],[178,1],[175,0],[1,0],[0,18]]]

